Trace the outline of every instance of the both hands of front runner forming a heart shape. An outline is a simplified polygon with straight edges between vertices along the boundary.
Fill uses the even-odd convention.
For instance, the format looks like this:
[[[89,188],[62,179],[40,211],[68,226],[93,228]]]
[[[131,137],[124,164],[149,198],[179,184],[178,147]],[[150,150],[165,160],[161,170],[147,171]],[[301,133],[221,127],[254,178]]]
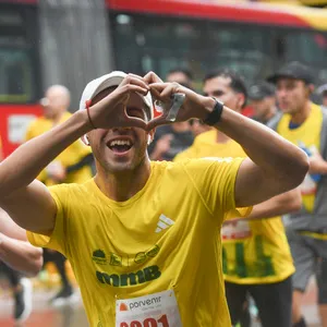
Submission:
[[[145,96],[148,92],[154,100],[164,104],[162,114],[149,122],[129,116],[126,107],[130,94],[137,93]],[[154,72],[149,72],[144,77],[129,74],[112,93],[89,108],[89,119],[92,124],[99,129],[140,128],[149,132],[156,126],[172,123],[168,116],[174,94],[184,96],[175,122],[192,118],[205,119],[215,106],[214,99],[198,95],[178,83],[164,83]]]

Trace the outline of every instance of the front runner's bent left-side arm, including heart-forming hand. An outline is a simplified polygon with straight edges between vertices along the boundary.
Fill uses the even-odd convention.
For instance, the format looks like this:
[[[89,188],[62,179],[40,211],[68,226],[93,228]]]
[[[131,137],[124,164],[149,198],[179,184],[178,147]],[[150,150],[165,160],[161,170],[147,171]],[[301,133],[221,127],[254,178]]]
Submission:
[[[148,86],[141,77],[126,76],[110,95],[89,108],[93,124],[106,130],[146,129],[144,120],[125,113],[131,92],[145,95]],[[51,234],[57,206],[48,189],[35,178],[69,145],[90,132],[93,124],[87,110],[80,110],[62,124],[21,145],[0,164],[0,207],[19,226]]]

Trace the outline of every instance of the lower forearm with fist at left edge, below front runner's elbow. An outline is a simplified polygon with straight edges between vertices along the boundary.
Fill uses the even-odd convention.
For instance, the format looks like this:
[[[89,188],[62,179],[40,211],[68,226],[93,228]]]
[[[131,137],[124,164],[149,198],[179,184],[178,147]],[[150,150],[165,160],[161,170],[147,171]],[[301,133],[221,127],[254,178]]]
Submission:
[[[0,261],[28,276],[36,275],[43,266],[43,251],[28,242],[14,240],[0,233]]]

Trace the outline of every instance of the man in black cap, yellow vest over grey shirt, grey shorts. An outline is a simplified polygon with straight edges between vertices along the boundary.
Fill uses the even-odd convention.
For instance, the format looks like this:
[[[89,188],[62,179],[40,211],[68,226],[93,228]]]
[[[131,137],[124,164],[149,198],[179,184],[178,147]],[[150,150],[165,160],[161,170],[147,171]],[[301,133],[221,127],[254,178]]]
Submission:
[[[290,215],[287,229],[296,271],[293,277],[293,326],[305,327],[302,299],[310,277],[317,274],[318,305],[327,326],[327,112],[310,99],[314,76],[308,66],[290,62],[268,78],[277,85],[281,113],[269,124],[310,156],[310,171],[301,184],[302,209]],[[325,268],[326,269],[326,268]]]

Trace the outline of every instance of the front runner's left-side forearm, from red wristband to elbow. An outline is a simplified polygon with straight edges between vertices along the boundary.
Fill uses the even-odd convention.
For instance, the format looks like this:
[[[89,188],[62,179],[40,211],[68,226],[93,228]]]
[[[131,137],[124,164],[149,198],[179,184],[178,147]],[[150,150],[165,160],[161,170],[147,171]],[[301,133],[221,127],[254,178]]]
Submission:
[[[20,146],[0,164],[0,198],[28,185],[62,150],[89,130],[86,112],[80,111]]]

